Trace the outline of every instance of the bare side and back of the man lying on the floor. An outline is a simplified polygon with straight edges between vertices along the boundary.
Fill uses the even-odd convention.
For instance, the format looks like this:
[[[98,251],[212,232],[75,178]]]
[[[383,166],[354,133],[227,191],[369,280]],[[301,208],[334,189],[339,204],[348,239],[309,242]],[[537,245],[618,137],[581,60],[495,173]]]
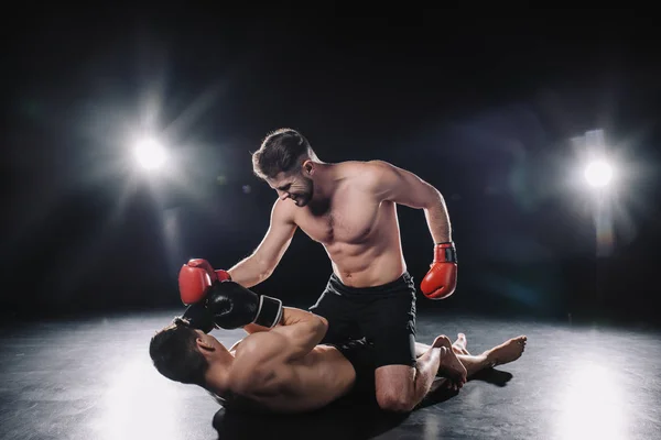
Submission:
[[[278,366],[259,392],[240,395],[227,389],[215,397],[228,409],[300,413],[321,408],[347,394],[355,377],[354,367],[337,349],[317,345],[302,359]]]

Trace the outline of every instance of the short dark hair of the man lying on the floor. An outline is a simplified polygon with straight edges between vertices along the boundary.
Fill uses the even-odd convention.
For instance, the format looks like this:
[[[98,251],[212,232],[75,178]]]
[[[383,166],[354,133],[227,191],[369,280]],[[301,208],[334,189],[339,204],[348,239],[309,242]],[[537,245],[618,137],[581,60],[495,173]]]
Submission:
[[[197,350],[197,332],[178,318],[154,334],[149,355],[159,373],[183,384],[204,385],[209,364]]]

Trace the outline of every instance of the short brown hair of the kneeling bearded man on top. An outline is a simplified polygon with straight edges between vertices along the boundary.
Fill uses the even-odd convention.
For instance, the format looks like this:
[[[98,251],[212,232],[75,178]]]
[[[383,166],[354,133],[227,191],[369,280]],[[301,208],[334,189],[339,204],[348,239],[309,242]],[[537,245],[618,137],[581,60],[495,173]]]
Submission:
[[[293,129],[279,129],[269,133],[252,153],[252,170],[259,178],[272,179],[294,170],[303,156],[316,157],[305,136]]]

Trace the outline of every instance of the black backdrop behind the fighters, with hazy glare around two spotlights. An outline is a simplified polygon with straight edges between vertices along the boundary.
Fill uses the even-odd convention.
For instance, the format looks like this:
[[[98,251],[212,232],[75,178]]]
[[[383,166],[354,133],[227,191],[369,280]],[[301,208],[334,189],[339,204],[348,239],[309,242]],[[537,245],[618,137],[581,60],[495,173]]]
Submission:
[[[176,274],[187,258],[229,267],[259,244],[275,194],[252,175],[250,152],[292,127],[323,161],[384,160],[445,196],[458,288],[444,301],[421,297],[420,309],[654,322],[661,68],[652,14],[360,18],[356,8],[8,16],[2,311],[180,306]],[[176,172],[133,167],[131,133],[147,129],[166,140]],[[595,129],[619,167],[614,251],[599,258],[594,197],[575,179],[584,157],[572,142]],[[399,213],[419,284],[433,243],[422,211]],[[310,306],[329,274],[322,246],[299,231],[254,289]]]

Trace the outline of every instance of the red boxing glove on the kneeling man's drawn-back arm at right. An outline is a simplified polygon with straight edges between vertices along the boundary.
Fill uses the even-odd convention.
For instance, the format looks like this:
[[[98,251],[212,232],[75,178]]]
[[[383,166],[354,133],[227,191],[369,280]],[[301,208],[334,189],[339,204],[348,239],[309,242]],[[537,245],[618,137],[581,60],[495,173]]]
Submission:
[[[420,289],[430,299],[444,299],[457,287],[457,251],[454,243],[440,243],[434,248],[434,262],[420,283]]]

